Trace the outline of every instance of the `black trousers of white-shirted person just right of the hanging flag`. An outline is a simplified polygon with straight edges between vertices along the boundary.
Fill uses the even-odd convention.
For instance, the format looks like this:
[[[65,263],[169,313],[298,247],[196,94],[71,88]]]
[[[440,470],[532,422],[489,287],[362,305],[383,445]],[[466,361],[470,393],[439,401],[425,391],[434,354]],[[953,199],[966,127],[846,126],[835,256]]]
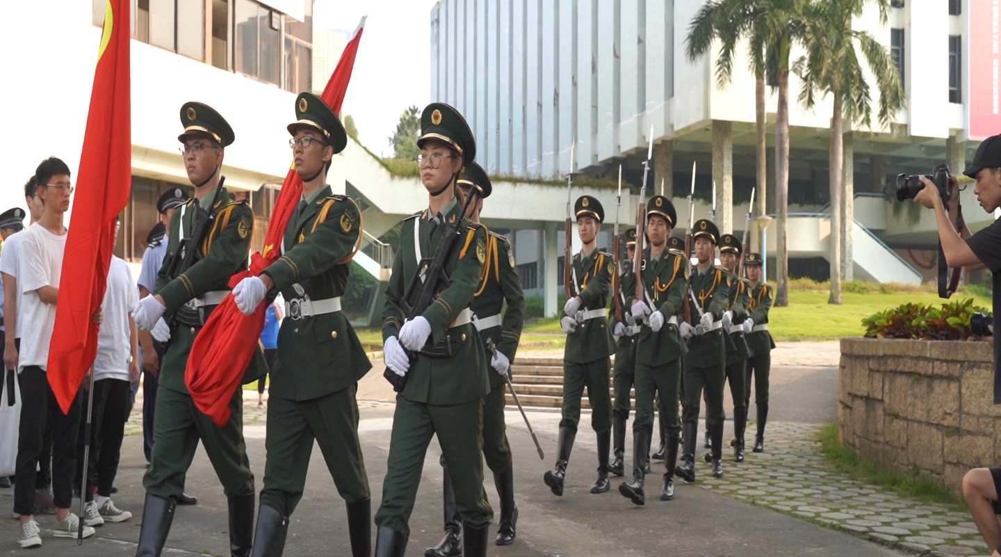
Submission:
[[[94,382],[94,406],[91,411],[90,454],[87,463],[86,500],[93,499],[94,487],[102,497],[111,497],[111,486],[118,473],[125,422],[128,421],[131,385],[121,379],[101,379]],[[76,456],[78,481],[83,467],[84,422],[87,420],[87,396],[84,394],[80,411],[80,443]]]

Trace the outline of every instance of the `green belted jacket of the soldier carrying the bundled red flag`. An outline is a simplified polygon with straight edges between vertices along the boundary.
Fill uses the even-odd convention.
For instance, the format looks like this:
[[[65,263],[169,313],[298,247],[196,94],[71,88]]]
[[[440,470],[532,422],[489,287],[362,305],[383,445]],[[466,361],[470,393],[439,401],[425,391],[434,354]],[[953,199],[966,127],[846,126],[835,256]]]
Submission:
[[[344,294],[350,260],[361,241],[358,205],[325,186],[285,227],[283,254],[264,272],[274,281],[274,296],[286,303],[326,300]],[[270,298],[269,296],[269,298]],[[285,315],[278,331],[277,366],[271,372],[272,397],[306,401],[336,393],[371,369],[343,312],[296,320]]]

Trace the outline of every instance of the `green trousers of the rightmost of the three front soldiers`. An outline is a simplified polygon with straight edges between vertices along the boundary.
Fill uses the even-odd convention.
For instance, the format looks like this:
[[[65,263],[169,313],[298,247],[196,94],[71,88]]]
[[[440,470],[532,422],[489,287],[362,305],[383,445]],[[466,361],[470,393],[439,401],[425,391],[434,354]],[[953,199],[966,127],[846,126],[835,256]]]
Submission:
[[[375,525],[409,536],[407,521],[431,437],[437,435],[448,467],[455,508],[464,524],[484,528],[493,518],[483,490],[482,400],[457,405],[428,405],[396,396],[392,437],[382,483],[382,504]]]

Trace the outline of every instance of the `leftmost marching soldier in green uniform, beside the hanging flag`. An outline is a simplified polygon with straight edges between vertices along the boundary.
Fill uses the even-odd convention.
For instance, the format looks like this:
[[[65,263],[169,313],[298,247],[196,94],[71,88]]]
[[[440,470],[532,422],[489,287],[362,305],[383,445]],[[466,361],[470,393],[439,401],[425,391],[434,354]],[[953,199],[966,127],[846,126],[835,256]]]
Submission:
[[[146,501],[142,512],[137,556],[159,555],[181,496],[184,475],[198,441],[215,469],[229,506],[229,544],[234,556],[250,555],[253,535],[254,481],[243,442],[243,393],[236,389],[229,402],[229,421],[222,427],[201,413],[184,384],[184,369],[195,336],[209,313],[229,294],[229,277],[247,267],[253,213],[218,187],[224,148],[233,130],[218,112],[199,102],[181,106],[184,132],[177,139],[194,196],[177,207],[170,219],[167,254],[153,296],[139,301],[132,317],[139,329],[169,346],[160,367],[153,426],[153,450],[143,478]],[[211,217],[211,220],[206,220]],[[208,222],[204,239],[192,235]],[[185,254],[196,249],[193,264],[182,268]],[[191,257],[192,255],[188,255]],[[163,319],[168,316],[170,325]],[[242,383],[256,381],[264,371],[259,353]]]

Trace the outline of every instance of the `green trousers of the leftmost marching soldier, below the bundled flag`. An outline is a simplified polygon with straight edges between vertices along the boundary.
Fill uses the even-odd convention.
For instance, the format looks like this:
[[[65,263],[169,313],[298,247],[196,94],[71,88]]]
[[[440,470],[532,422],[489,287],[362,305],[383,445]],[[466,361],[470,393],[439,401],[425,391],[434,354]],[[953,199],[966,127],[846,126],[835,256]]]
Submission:
[[[200,439],[226,496],[253,494],[253,473],[243,442],[242,389],[233,393],[229,410],[229,421],[220,428],[195,407],[190,395],[161,386],[156,393],[152,458],[142,479],[146,493],[163,499],[180,497]]]

